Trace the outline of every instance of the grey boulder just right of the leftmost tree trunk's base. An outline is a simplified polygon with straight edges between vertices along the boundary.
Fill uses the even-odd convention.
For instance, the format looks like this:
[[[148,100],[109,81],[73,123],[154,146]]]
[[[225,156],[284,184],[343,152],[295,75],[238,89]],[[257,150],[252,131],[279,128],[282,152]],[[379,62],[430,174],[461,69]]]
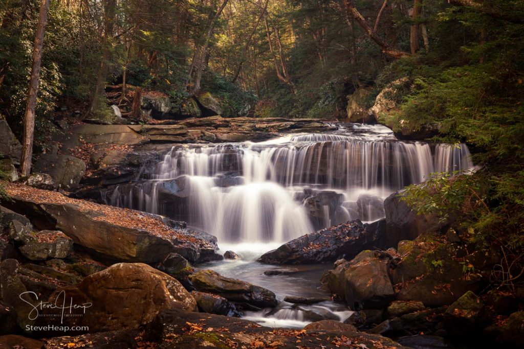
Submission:
[[[85,164],[69,155],[42,154],[34,166],[35,172],[45,173],[64,190],[72,191],[80,184],[85,173]]]

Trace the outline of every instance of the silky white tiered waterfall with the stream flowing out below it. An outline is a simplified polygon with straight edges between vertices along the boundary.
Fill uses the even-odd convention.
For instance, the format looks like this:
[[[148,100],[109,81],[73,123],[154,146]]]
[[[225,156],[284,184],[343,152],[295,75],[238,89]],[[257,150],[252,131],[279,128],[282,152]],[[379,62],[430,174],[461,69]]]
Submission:
[[[432,172],[471,170],[465,144],[398,141],[384,126],[340,125],[332,133],[288,134],[260,143],[177,145],[157,164],[145,163],[137,181],[113,186],[109,205],[174,220],[217,237],[221,251],[241,260],[208,267],[291,296],[328,296],[320,275],[331,266],[301,266],[266,276],[274,266],[256,258],[300,235],[347,220],[383,218],[384,199]],[[224,247],[227,246],[227,249]],[[320,318],[343,321],[345,306],[281,302],[245,317],[274,327],[301,328]]]

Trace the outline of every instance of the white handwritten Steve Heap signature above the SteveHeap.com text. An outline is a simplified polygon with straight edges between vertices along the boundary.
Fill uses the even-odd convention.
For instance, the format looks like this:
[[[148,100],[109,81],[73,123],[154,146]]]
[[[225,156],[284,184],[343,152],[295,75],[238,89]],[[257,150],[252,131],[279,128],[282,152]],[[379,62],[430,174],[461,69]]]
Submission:
[[[30,301],[26,298],[29,296]],[[63,324],[64,317],[78,317],[85,314],[85,310],[93,306],[93,303],[73,303],[73,298],[69,299],[65,296],[65,291],[59,292],[54,302],[42,301],[38,299],[38,295],[33,291],[22,292],[20,299],[31,306],[31,311],[28,314],[29,320],[36,320],[40,316],[46,317],[60,317],[60,323]],[[32,301],[34,299],[34,301]],[[58,312],[49,312],[41,314],[43,310],[58,310]]]

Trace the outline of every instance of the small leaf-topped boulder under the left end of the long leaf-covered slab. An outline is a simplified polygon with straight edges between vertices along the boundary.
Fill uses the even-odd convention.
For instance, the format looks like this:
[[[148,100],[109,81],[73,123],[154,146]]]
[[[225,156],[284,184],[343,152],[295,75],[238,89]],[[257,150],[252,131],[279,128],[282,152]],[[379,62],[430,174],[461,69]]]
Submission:
[[[61,231],[44,230],[35,239],[19,247],[20,252],[31,261],[65,258],[73,252],[73,239]]]

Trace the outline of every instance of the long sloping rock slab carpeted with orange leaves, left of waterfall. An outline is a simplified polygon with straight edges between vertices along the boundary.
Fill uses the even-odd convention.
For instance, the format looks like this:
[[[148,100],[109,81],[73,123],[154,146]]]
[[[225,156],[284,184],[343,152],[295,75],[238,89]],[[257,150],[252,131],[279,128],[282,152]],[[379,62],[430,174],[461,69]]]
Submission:
[[[113,262],[158,263],[169,253],[190,262],[220,260],[216,238],[172,224],[148,213],[71,199],[57,192],[21,185],[7,186],[15,211],[60,230],[74,243]],[[164,221],[165,220],[165,221]],[[173,228],[174,227],[174,228]]]

